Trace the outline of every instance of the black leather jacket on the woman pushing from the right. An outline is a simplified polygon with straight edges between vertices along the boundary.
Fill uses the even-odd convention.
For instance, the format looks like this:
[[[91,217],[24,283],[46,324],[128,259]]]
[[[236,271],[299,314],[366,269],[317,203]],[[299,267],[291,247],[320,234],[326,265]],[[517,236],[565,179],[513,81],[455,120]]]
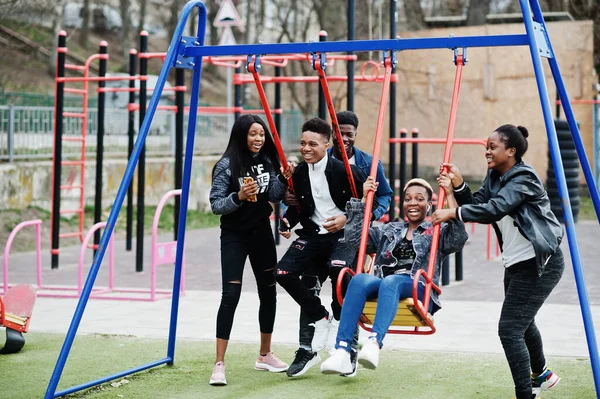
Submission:
[[[509,215],[516,226],[533,245],[538,275],[542,275],[548,258],[558,249],[563,229],[552,211],[550,200],[535,170],[519,162],[504,175],[488,171],[481,188],[472,194],[468,185],[455,189],[456,201],[461,204],[463,222],[494,224]]]

